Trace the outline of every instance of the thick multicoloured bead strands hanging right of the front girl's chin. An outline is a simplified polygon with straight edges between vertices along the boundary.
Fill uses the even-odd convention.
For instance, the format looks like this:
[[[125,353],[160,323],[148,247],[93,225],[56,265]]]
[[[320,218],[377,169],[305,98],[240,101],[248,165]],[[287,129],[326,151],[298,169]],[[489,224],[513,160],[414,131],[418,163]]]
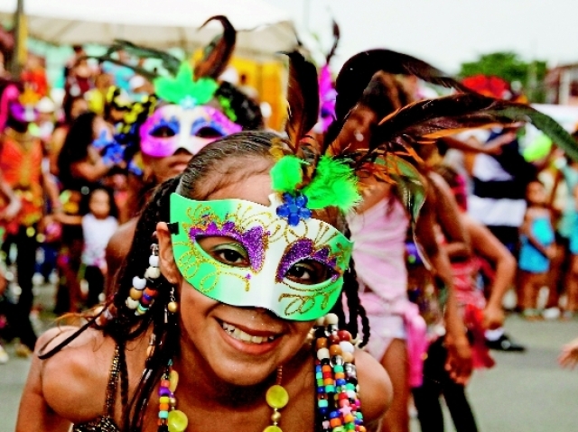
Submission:
[[[328,314],[315,326],[315,382],[318,418],[323,432],[365,432],[359,401],[355,347],[339,318]]]

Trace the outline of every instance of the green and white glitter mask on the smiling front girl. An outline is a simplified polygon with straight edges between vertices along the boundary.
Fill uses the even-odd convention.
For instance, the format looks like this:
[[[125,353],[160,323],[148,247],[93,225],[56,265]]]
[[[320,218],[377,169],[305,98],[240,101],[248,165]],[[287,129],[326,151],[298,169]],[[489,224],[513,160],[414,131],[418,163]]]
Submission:
[[[179,271],[210,299],[266,308],[309,321],[340,299],[351,242],[335,227],[309,218],[288,225],[266,207],[241,199],[195,201],[171,196],[172,248]],[[200,243],[206,238],[211,245]],[[214,242],[213,240],[217,240]]]

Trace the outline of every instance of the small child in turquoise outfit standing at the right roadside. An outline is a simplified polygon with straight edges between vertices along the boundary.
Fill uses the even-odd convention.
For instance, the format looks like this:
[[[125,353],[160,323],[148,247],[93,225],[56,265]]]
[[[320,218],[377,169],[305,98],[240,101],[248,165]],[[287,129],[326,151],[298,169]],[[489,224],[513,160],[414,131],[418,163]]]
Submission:
[[[530,320],[542,317],[537,309],[539,290],[545,286],[550,260],[555,256],[555,236],[552,214],[546,207],[544,185],[537,179],[527,185],[527,210],[520,228],[518,258],[518,306]]]

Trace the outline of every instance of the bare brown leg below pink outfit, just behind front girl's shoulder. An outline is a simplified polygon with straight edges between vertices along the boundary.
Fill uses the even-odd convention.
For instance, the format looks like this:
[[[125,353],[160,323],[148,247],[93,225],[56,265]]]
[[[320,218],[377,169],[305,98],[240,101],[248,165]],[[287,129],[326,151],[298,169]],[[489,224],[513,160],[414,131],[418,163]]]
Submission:
[[[381,422],[381,432],[409,432],[409,377],[406,342],[394,339],[387,347],[381,364],[393,384],[394,397]]]

